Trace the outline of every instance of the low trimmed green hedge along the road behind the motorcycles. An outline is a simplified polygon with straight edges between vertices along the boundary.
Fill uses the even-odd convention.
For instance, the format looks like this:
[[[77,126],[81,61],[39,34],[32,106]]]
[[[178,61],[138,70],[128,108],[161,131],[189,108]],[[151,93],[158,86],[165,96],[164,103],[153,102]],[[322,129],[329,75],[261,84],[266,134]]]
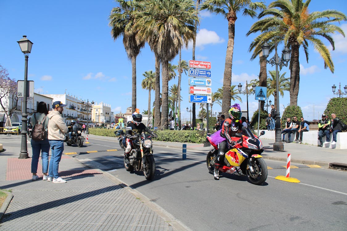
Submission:
[[[106,128],[89,128],[89,133],[93,135],[101,136],[113,136],[115,137],[115,131],[118,129],[106,129]],[[125,130],[124,130],[125,132]],[[206,141],[205,131],[188,131],[188,130],[158,130],[155,131],[158,135],[159,141],[168,142],[189,142],[189,143],[204,143]]]

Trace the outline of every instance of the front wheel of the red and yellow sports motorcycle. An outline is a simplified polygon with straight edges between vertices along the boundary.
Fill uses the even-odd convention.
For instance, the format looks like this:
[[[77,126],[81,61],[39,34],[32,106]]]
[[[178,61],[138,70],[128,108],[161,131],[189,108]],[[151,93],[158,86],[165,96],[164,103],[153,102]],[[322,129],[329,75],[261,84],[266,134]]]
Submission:
[[[247,167],[246,176],[255,185],[261,185],[268,177],[268,167],[262,158],[256,158],[252,163],[253,172]]]

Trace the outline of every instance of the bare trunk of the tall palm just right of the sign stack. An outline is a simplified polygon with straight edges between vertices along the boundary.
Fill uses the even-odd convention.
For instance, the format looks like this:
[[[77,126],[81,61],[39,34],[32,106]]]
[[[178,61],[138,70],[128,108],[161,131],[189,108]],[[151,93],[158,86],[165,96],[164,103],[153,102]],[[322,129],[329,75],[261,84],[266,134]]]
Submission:
[[[231,103],[231,68],[232,68],[232,55],[234,52],[234,38],[235,38],[235,21],[237,19],[236,13],[230,11],[227,15],[228,19],[228,47],[227,55],[225,57],[225,68],[223,78],[223,100],[222,100],[222,113],[227,115]]]

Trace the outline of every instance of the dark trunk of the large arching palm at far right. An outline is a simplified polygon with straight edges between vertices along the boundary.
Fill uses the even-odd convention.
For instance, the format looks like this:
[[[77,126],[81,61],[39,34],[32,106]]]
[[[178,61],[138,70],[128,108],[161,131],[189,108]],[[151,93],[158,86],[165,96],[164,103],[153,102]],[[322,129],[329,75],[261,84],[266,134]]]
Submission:
[[[300,66],[299,66],[299,45],[297,43],[291,44],[291,57],[290,57],[290,106],[298,106],[299,94],[299,81],[300,81]]]

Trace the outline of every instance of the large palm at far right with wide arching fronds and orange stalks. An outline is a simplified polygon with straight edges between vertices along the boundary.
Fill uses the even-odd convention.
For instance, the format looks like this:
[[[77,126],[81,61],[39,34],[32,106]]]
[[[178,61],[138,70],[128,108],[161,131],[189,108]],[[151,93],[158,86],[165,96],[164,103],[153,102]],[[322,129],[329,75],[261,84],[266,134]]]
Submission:
[[[346,15],[337,10],[323,10],[309,13],[308,5],[311,0],[277,0],[270,3],[254,23],[247,34],[262,32],[252,44],[254,53],[258,54],[266,41],[271,41],[272,49],[277,44],[284,43],[291,47],[290,57],[290,105],[297,106],[299,93],[300,66],[299,48],[303,46],[308,62],[308,43],[311,43],[324,60],[324,68],[334,72],[334,64],[330,52],[319,39],[323,37],[335,49],[332,33],[344,35],[342,29],[332,23],[346,20]]]

